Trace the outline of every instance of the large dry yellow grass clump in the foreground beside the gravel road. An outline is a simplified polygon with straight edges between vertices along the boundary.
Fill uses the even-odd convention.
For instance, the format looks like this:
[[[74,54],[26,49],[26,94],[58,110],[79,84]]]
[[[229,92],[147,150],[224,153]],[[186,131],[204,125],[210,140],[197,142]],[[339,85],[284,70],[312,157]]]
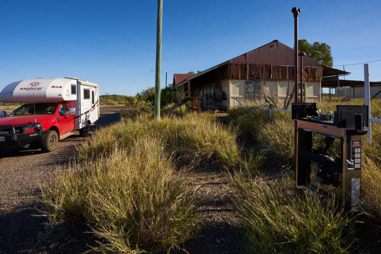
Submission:
[[[191,237],[199,215],[194,190],[160,139],[140,137],[96,161],[60,168],[42,189],[52,222],[88,223],[106,239],[99,250],[169,252]]]

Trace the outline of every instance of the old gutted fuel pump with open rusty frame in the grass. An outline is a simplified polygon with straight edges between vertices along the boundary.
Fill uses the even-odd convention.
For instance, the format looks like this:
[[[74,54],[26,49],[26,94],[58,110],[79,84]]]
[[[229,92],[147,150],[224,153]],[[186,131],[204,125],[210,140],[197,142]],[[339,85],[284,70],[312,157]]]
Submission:
[[[367,133],[368,106],[336,105],[333,121],[319,114],[316,103],[292,103],[292,119],[296,121],[295,187],[306,190],[313,186],[312,162],[317,163],[315,182],[342,188],[346,208],[360,204],[361,137]],[[324,118],[324,120],[322,120]],[[323,137],[322,147],[314,148],[313,137]],[[329,154],[339,144],[336,154]]]

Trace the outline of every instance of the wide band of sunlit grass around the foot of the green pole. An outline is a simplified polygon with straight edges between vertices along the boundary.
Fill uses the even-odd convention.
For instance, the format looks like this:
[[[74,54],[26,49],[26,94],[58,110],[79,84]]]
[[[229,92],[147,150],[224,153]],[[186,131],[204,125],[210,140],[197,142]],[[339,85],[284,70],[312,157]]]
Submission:
[[[114,146],[128,149],[140,136],[160,137],[175,153],[178,162],[195,165],[211,161],[226,166],[240,162],[237,131],[219,123],[211,114],[189,113],[180,117],[162,117],[160,121],[141,116],[125,119],[96,131],[91,142],[78,148],[80,159],[108,154]]]

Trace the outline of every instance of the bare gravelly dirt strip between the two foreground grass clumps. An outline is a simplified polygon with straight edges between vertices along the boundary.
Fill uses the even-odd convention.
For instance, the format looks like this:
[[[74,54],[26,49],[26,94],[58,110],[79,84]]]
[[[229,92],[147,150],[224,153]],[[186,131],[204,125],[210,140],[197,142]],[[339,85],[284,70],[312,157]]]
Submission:
[[[227,188],[225,174],[218,167],[204,166],[189,172],[192,185],[200,185],[197,192],[198,210],[202,213],[200,230],[174,253],[240,254],[240,221],[231,205],[233,193]]]

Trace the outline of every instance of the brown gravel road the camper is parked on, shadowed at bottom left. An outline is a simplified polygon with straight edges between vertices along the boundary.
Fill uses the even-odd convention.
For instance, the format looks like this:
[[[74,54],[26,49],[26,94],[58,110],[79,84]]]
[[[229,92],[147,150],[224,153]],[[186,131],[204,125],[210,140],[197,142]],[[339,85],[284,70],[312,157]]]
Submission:
[[[90,131],[120,119],[122,107],[101,107],[101,116]],[[38,243],[41,218],[36,213],[40,184],[49,180],[58,164],[75,156],[75,146],[86,139],[70,136],[59,143],[56,151],[10,150],[0,155],[0,253],[31,253]],[[43,252],[44,253],[44,252]]]

